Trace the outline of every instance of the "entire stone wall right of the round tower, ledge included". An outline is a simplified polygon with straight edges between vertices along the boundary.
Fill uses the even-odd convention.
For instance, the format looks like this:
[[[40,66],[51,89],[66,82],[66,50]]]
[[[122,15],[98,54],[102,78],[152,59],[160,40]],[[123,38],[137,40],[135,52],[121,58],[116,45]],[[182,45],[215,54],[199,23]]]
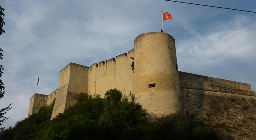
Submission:
[[[253,131],[256,129],[256,94],[250,91],[250,84],[184,72],[179,74],[187,114],[195,115],[235,140],[256,139]]]

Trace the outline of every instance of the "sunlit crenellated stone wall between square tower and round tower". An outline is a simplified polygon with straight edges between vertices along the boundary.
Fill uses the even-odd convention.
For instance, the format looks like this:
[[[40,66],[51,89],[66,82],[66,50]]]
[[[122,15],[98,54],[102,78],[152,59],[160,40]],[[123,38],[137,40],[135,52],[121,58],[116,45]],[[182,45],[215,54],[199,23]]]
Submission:
[[[106,61],[89,67],[88,93],[104,97],[106,91],[118,89],[125,96],[134,94],[134,73],[131,63],[134,61],[134,49]]]

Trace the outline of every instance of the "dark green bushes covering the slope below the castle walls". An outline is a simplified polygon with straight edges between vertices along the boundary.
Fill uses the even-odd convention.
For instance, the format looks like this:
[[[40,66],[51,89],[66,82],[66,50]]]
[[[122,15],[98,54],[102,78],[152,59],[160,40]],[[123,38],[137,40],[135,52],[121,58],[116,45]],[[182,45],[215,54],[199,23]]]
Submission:
[[[54,104],[54,103],[53,103]],[[104,98],[81,95],[76,105],[50,121],[53,104],[0,132],[1,140],[217,140],[210,126],[182,113],[154,120],[116,89]]]

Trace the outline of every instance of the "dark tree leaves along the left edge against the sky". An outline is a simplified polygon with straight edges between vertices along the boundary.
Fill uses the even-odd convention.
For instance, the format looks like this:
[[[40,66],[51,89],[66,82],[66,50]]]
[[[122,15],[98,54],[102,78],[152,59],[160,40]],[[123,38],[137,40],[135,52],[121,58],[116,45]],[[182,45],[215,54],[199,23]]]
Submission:
[[[0,35],[5,33],[5,31],[3,30],[3,25],[5,25],[5,22],[3,21],[3,17],[4,17],[4,12],[5,9],[2,8],[2,6],[0,6]],[[3,59],[3,50],[0,48],[0,59]],[[0,78],[2,77],[3,74],[3,65],[0,64]],[[3,81],[0,79],[0,98],[3,98],[3,95],[5,93],[5,87],[3,84]],[[2,126],[3,122],[5,120],[7,120],[8,118],[5,117],[4,115],[6,114],[7,111],[9,111],[10,109],[12,109],[11,104],[9,104],[7,107],[4,107],[2,109],[0,109],[0,126]]]

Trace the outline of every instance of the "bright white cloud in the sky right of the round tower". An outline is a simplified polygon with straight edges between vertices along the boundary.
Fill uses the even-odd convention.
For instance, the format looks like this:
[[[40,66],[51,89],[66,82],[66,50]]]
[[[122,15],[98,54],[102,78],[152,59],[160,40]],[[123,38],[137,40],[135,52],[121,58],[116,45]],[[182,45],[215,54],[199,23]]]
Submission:
[[[177,54],[183,67],[215,65],[230,59],[246,62],[256,58],[255,20],[244,16],[234,18],[235,22],[222,23],[209,32],[177,41]]]

